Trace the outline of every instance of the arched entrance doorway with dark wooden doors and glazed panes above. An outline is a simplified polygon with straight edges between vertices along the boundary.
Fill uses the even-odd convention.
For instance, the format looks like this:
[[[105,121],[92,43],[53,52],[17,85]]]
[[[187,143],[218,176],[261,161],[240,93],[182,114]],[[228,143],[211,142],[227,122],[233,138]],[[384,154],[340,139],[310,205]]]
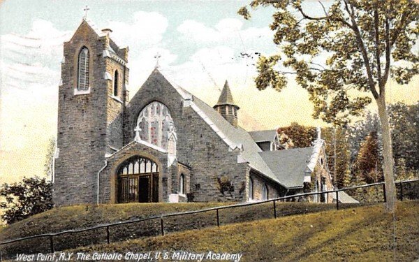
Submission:
[[[130,157],[119,166],[118,203],[159,202],[159,166],[145,157]]]

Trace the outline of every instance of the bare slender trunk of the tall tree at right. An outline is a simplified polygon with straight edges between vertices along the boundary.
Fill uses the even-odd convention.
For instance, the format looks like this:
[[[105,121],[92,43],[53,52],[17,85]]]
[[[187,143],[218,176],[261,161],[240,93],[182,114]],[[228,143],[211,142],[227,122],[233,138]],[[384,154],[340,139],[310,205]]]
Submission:
[[[388,113],[385,106],[385,96],[381,95],[376,99],[378,106],[378,116],[381,122],[381,131],[383,133],[383,172],[385,182],[385,210],[395,212],[396,210],[396,187],[394,175],[394,160],[392,156],[392,140],[390,133],[390,123],[388,122]]]

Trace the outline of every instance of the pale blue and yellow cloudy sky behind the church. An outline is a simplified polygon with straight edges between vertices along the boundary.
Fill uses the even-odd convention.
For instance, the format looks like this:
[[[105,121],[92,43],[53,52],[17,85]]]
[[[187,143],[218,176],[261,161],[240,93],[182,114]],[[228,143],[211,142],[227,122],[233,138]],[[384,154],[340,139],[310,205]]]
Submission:
[[[256,89],[257,56],[277,52],[269,24],[272,9],[237,15],[248,1],[22,1],[0,0],[0,184],[42,175],[48,140],[57,137],[57,96],[63,42],[87,17],[129,47],[131,97],[156,65],[172,82],[214,105],[228,80],[239,124],[261,130],[313,119],[307,92],[293,80],[282,92]],[[314,13],[318,3],[305,6]],[[243,57],[240,54],[253,54]],[[418,78],[390,83],[388,101],[419,100]],[[374,107],[369,109],[374,110]]]

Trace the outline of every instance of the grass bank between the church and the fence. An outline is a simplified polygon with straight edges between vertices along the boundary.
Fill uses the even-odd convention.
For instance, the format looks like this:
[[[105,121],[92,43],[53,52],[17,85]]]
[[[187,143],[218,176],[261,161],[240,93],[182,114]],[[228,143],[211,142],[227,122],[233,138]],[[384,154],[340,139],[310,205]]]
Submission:
[[[6,226],[0,231],[0,242],[29,235],[57,233],[68,229],[87,228],[97,224],[145,218],[172,212],[200,210],[219,205],[226,205],[226,203],[133,203],[99,206],[75,205],[71,207],[54,208],[53,210],[36,214],[33,217]],[[346,205],[346,207],[351,206],[353,205]],[[334,208],[335,205],[333,204],[278,202],[277,214],[280,217],[291,214],[321,212]],[[270,219],[273,215],[272,203],[219,211],[221,224],[238,223],[255,219]],[[216,212],[211,211],[200,214],[188,214],[182,217],[168,217],[164,219],[164,225],[166,233],[216,226]],[[112,226],[110,228],[110,237],[112,242],[118,242],[159,235],[160,230],[159,219],[154,219],[152,221]],[[106,230],[105,228],[101,228],[82,233],[66,233],[54,237],[54,247],[56,250],[62,250],[100,244],[105,241]],[[49,251],[50,241],[48,238],[24,240],[3,247],[3,254],[8,256],[22,252],[30,254]]]

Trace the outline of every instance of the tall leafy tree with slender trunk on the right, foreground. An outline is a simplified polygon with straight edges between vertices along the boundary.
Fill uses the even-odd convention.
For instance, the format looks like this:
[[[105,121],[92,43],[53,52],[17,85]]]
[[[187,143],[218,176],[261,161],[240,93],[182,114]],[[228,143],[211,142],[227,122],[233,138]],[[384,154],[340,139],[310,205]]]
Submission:
[[[351,89],[358,91],[351,94],[372,95],[382,129],[386,210],[394,212],[385,87],[389,78],[406,84],[419,71],[418,55],[411,52],[419,34],[419,6],[412,0],[335,0],[327,7],[318,1],[322,15],[312,15],[303,1],[251,1],[252,8],[276,8],[270,28],[281,51],[260,56],[256,87],[281,91],[287,84],[285,75],[293,74],[310,94],[314,117],[335,124],[348,122],[348,115],[360,115],[372,101],[369,96],[351,96]],[[246,6],[238,13],[250,17]]]

